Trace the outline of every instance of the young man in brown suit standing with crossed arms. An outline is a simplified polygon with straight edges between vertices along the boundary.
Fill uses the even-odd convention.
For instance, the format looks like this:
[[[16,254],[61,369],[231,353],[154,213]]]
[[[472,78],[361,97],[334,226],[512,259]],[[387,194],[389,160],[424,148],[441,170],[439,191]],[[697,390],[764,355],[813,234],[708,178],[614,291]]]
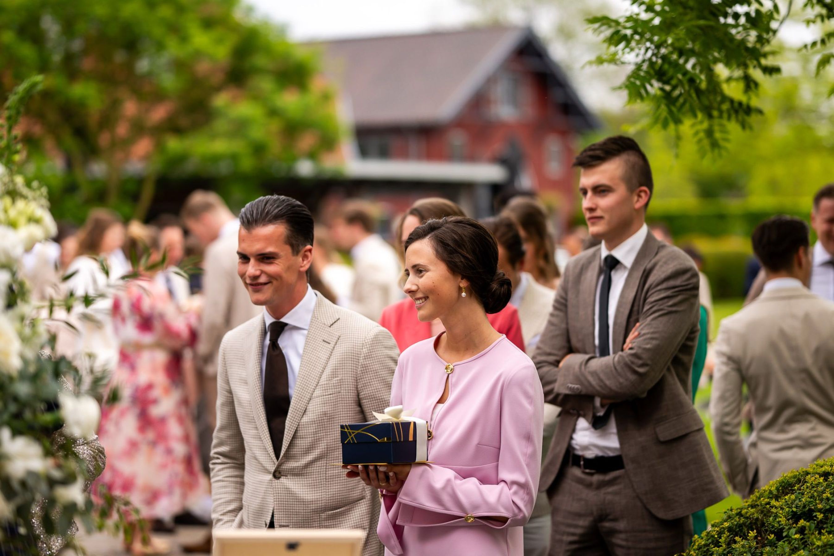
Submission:
[[[594,143],[574,166],[602,244],[568,263],[533,357],[562,408],[540,484],[550,553],[676,554],[690,514],[727,495],[690,397],[698,272],[648,233],[651,168],[633,139]]]

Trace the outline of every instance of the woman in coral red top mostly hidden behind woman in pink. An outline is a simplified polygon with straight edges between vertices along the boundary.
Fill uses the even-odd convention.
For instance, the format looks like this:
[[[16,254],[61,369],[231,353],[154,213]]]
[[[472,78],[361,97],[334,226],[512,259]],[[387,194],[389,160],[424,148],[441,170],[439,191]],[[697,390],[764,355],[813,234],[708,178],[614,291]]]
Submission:
[[[447,218],[454,216],[466,216],[463,209],[449,199],[440,197],[423,198],[415,202],[406,213],[399,219],[396,229],[397,255],[400,261],[404,262],[404,245],[409,234],[414,228],[431,219]],[[515,307],[507,303],[497,313],[490,313],[486,316],[490,319],[492,328],[499,333],[505,334],[510,342],[515,343],[524,350],[524,336],[521,333],[521,321]],[[432,338],[443,332],[443,324],[436,319],[431,322],[421,322],[417,318],[417,308],[409,298],[393,303],[382,311],[379,324],[388,329],[394,336],[400,352],[405,351],[410,345]]]

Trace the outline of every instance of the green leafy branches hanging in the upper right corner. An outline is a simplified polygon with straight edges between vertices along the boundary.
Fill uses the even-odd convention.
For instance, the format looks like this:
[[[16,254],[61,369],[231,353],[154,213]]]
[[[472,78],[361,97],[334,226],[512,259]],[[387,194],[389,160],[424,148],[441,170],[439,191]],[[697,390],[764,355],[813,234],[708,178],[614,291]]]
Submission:
[[[691,123],[701,151],[721,150],[731,126],[748,129],[762,113],[756,95],[761,78],[781,73],[776,37],[789,16],[817,34],[803,49],[816,54],[818,77],[834,60],[831,0],[804,0],[801,8],[792,0],[630,3],[620,18],[587,20],[607,48],[596,62],[630,68],[620,84],[628,102],[649,109],[650,127],[678,132]]]

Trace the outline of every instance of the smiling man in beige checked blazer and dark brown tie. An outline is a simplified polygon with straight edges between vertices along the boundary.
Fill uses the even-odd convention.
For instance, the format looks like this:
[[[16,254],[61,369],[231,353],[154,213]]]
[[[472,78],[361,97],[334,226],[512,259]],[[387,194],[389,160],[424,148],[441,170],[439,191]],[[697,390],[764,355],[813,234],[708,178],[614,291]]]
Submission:
[[[303,204],[262,197],[239,219],[238,274],[264,313],[220,344],[214,528],[359,528],[363,554],[381,554],[377,494],[329,463],[341,461],[339,423],[388,405],[394,338],[309,288],[314,223]]]

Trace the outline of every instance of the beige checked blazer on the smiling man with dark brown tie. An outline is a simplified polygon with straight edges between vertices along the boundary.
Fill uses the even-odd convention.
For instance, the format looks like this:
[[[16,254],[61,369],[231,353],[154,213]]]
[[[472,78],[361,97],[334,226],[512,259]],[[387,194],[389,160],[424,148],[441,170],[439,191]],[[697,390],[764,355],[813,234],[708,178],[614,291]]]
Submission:
[[[358,528],[381,554],[379,494],[344,478],[339,424],[374,419],[388,403],[399,350],[390,333],[320,293],[304,343],[284,447],[276,461],[261,387],[264,317],[226,334],[218,358],[211,450],[215,528]]]

